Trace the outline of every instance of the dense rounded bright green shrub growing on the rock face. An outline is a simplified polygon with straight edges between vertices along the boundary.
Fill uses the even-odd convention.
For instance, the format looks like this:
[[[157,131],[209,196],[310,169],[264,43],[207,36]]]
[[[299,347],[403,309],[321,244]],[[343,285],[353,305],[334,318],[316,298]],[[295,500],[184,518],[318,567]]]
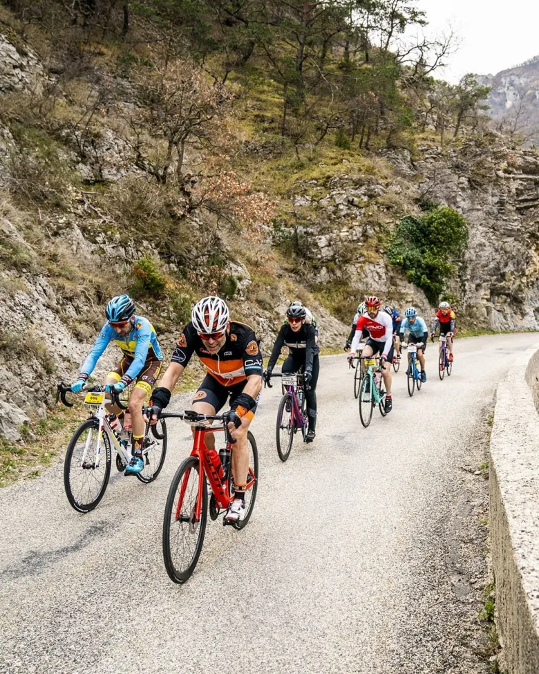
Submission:
[[[437,303],[446,283],[455,274],[455,264],[468,245],[468,225],[448,206],[435,207],[424,215],[402,218],[388,249],[390,263]]]

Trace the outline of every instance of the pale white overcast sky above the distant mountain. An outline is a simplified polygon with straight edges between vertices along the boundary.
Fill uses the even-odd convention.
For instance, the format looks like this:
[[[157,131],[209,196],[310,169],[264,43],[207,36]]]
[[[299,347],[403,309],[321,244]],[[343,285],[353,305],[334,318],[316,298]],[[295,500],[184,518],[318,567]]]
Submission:
[[[440,79],[495,75],[539,54],[538,0],[417,0],[416,6],[426,12],[427,37],[448,32],[451,24],[460,38]]]

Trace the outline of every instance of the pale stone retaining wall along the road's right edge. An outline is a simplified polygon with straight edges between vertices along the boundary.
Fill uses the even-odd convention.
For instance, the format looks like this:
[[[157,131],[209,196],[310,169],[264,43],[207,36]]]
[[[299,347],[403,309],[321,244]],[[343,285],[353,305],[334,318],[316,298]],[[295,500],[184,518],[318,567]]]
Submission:
[[[509,674],[539,674],[538,346],[498,386],[490,446],[496,625]]]

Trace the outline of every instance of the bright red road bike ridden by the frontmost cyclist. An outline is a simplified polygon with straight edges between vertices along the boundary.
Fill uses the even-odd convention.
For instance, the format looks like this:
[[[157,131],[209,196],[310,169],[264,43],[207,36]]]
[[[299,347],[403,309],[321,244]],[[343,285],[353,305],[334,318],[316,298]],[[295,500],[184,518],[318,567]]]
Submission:
[[[180,464],[173,477],[164,509],[163,556],[167,573],[175,583],[185,583],[195,570],[206,531],[208,513],[216,520],[234,500],[234,478],[232,476],[232,453],[235,440],[231,437],[227,414],[206,415],[186,410],[183,413],[162,413],[160,419],[183,419],[195,427],[191,456]],[[205,426],[207,422],[218,421],[219,426]],[[226,448],[219,450],[219,459],[206,447],[206,433],[225,431]],[[247,525],[252,515],[256,490],[258,488],[258,449],[251,431],[247,432],[249,449],[249,472],[245,490],[245,518],[240,522],[228,522],[240,530]]]

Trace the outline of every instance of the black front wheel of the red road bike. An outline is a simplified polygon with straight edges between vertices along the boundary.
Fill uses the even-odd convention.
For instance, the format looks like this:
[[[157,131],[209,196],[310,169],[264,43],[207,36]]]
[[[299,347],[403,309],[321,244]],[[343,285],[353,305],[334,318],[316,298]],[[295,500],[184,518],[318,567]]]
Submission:
[[[206,532],[206,523],[207,523],[207,512],[208,512],[208,492],[206,489],[205,480],[202,480],[202,510],[200,512],[200,521],[198,523],[193,523],[192,514],[193,509],[196,506],[198,500],[198,490],[200,487],[200,463],[198,457],[189,456],[185,459],[178,470],[172,478],[172,482],[169,488],[169,495],[167,496],[167,505],[164,507],[164,517],[163,517],[163,537],[162,537],[162,546],[163,546],[163,559],[164,567],[167,569],[167,574],[169,578],[174,583],[185,583],[191,577],[191,574],[195,570],[195,567],[198,563],[198,558],[200,557],[200,552],[202,552],[202,544],[204,543],[204,536]],[[187,474],[187,477],[185,477]],[[196,489],[193,494],[193,489],[189,490],[189,478],[194,475],[196,480]],[[185,483],[185,494],[182,500],[182,507],[180,509],[180,518],[182,521],[176,519],[176,511],[178,509],[178,501],[176,496],[178,495],[178,500],[180,498],[180,492],[183,485],[183,480],[187,480]],[[184,508],[186,507],[185,497],[189,491],[189,496],[193,496],[191,500],[187,503],[187,509],[184,513]],[[180,545],[180,549],[186,550],[189,548],[189,536],[196,536],[196,540],[193,541],[194,549],[193,552],[189,552],[190,557],[189,561],[176,562],[174,559],[173,551],[171,550],[171,529],[173,525],[178,527],[180,535],[182,536],[182,541],[187,541],[187,545]],[[182,525],[185,525],[182,527]],[[177,531],[178,531],[177,530]],[[185,536],[187,534],[187,538]],[[176,536],[178,538],[180,536]]]

